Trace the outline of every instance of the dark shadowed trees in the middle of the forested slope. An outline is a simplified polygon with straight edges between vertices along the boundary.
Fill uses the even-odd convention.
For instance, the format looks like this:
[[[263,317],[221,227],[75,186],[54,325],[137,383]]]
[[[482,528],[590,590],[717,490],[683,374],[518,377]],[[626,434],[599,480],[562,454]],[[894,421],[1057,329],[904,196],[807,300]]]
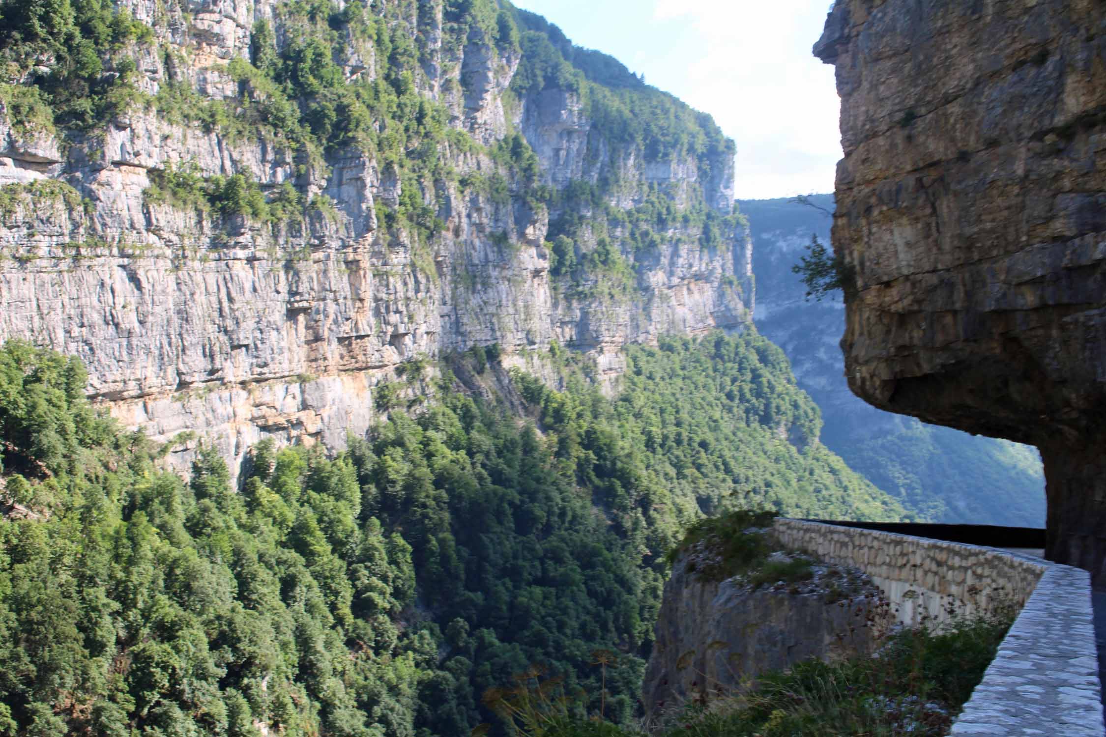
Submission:
[[[592,650],[638,652],[648,641],[635,554],[532,427],[520,432],[502,410],[463,396],[440,399],[417,422],[394,413],[352,452],[373,460],[359,466],[377,489],[367,512],[405,530],[424,606],[442,613],[447,635],[458,632],[446,670],[463,673],[470,703],[530,662],[573,689],[594,685]],[[644,668],[624,660],[607,674],[619,720]],[[444,719],[431,719],[435,734],[460,734],[456,717]]]

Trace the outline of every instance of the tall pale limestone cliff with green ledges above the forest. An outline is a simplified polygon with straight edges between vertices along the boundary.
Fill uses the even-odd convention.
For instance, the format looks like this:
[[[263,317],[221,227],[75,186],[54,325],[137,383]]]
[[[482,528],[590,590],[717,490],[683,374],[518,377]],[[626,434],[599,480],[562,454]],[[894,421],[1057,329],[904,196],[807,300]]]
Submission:
[[[613,60],[617,84],[593,82],[536,17],[121,11],[139,30],[101,74],[63,72],[51,41],[0,90],[0,339],[77,355],[91,396],[157,440],[195,431],[236,461],[265,436],[341,446],[416,357],[498,343],[522,364],[556,341],[613,377],[627,343],[748,320],[732,144]],[[111,101],[91,123],[58,107],[74,80]],[[627,137],[618,115],[657,97],[682,138]]]

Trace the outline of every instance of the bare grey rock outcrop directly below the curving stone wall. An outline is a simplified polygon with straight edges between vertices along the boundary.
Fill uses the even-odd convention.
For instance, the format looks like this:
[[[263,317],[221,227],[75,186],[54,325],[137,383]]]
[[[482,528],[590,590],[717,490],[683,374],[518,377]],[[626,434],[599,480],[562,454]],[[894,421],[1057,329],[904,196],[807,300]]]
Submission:
[[[680,556],[665,583],[645,672],[647,713],[712,699],[765,671],[875,645],[866,621],[880,596],[866,576],[818,565],[808,581],[752,588],[740,577],[718,581],[688,570],[695,555]]]

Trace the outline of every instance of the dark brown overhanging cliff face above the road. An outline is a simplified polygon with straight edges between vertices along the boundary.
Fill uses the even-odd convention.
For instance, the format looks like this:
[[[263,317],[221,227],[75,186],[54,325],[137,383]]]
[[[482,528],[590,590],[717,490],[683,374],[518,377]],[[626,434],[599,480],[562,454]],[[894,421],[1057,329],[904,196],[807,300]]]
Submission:
[[[1106,14],[838,2],[842,340],[873,404],[1033,443],[1047,556],[1106,573]]]

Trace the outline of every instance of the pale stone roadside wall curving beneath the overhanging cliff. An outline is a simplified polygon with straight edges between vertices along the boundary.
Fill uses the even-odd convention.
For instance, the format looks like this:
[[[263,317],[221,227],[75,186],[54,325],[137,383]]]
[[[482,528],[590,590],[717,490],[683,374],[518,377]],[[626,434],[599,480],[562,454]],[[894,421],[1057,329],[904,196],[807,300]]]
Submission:
[[[1019,614],[952,727],[952,735],[1103,737],[1087,571],[961,543],[776,519],[787,547],[868,573],[899,620],[1014,604]],[[910,593],[914,591],[915,593]]]

